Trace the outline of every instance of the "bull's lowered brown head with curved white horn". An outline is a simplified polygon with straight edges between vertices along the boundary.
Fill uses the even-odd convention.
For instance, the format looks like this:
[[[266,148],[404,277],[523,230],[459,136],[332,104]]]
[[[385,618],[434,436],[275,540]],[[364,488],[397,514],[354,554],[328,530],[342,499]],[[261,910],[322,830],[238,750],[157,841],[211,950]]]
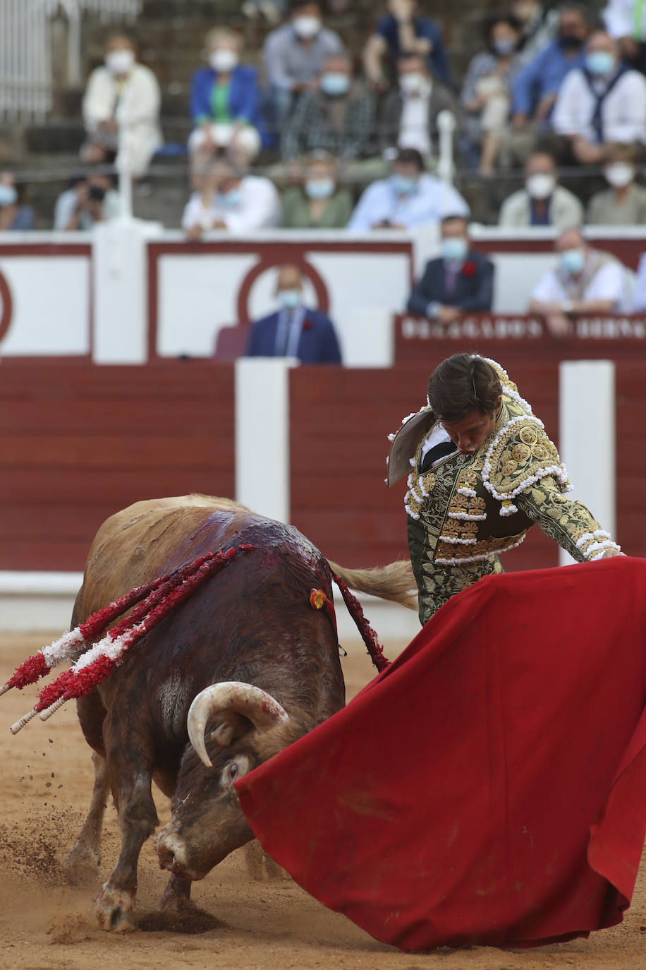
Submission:
[[[233,782],[302,733],[277,700],[252,684],[212,684],[191,704],[172,818],[157,839],[162,868],[202,879],[253,837]]]

